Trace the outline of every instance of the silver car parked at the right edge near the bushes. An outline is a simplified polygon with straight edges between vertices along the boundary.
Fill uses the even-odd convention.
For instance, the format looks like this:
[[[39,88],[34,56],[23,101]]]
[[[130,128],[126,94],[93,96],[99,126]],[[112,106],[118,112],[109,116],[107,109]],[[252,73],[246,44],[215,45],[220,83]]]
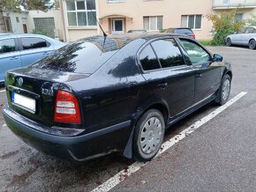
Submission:
[[[226,45],[249,46],[251,49],[256,48],[256,26],[246,26],[238,33],[230,34],[226,38]]]

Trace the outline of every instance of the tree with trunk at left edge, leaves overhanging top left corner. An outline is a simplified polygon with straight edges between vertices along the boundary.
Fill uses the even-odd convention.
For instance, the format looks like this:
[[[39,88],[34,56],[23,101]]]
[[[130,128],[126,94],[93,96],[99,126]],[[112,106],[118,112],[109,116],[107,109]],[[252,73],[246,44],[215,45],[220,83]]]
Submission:
[[[6,33],[4,10],[21,11],[21,9],[24,9],[46,11],[52,6],[52,0],[0,0],[0,33]]]

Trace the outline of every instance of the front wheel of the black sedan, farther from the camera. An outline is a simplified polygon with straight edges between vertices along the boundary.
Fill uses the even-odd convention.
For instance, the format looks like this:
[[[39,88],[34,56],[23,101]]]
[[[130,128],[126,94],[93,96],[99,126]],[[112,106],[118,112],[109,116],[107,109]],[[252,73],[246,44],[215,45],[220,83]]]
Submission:
[[[224,105],[228,100],[230,96],[230,89],[231,89],[231,78],[229,75],[225,75],[222,79],[222,85],[219,89],[217,98],[215,102],[218,105]]]

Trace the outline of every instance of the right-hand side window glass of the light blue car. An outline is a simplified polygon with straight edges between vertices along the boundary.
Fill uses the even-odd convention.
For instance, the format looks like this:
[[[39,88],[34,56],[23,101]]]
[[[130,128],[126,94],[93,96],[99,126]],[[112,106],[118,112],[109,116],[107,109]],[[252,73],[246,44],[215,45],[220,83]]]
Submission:
[[[32,48],[47,48],[50,46],[50,43],[38,37],[24,37],[21,38],[21,45],[22,48],[26,50]]]

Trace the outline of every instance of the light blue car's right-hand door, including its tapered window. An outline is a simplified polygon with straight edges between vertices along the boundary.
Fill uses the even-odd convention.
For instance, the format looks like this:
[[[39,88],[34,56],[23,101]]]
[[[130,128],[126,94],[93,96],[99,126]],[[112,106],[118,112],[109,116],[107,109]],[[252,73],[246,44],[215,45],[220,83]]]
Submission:
[[[35,63],[54,50],[52,43],[41,37],[20,37],[19,44],[22,66]]]

